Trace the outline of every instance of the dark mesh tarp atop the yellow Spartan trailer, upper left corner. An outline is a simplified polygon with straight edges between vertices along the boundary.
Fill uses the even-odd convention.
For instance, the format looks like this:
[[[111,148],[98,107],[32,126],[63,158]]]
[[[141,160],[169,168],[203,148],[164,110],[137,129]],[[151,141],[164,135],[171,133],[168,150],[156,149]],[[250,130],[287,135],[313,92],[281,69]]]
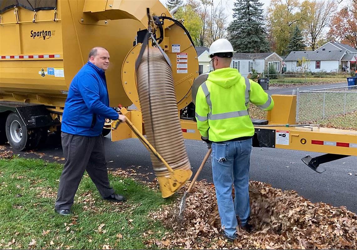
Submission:
[[[0,0],[0,13],[15,6],[36,11],[54,10],[57,6],[57,0]]]

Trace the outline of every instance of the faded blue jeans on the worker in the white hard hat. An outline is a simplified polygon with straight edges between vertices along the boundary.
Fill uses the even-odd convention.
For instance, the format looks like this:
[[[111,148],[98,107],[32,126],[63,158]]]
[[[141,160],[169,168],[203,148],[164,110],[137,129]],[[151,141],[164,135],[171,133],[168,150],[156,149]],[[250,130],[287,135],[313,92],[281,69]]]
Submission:
[[[247,223],[250,215],[248,187],[252,139],[213,142],[211,147],[213,184],[221,226],[228,237],[235,238],[236,215],[239,216],[242,226]],[[235,190],[234,201],[232,184]]]

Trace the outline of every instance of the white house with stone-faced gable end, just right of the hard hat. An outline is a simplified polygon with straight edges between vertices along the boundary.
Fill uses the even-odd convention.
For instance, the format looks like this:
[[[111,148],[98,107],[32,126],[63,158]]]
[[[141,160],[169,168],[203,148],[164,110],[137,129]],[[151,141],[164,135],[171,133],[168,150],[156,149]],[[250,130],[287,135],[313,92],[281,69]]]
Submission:
[[[243,76],[252,73],[252,69],[260,74],[267,74],[268,67],[273,65],[281,72],[283,59],[275,52],[268,53],[234,53],[231,67],[237,69]]]

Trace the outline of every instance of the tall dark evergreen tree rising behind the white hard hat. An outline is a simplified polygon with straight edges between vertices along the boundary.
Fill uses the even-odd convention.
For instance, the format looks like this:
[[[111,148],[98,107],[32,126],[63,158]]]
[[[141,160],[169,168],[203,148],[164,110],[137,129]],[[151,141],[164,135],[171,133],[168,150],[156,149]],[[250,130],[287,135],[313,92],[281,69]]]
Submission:
[[[239,53],[270,51],[262,6],[259,0],[236,0],[233,21],[228,27],[228,39]]]

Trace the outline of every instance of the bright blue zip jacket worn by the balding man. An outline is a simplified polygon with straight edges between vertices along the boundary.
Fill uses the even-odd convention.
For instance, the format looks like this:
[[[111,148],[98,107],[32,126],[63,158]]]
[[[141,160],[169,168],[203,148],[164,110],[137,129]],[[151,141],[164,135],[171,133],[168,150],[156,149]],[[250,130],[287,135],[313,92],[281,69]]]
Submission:
[[[88,61],[74,76],[68,90],[62,116],[62,132],[99,136],[105,118],[118,119],[109,107],[104,70]]]

